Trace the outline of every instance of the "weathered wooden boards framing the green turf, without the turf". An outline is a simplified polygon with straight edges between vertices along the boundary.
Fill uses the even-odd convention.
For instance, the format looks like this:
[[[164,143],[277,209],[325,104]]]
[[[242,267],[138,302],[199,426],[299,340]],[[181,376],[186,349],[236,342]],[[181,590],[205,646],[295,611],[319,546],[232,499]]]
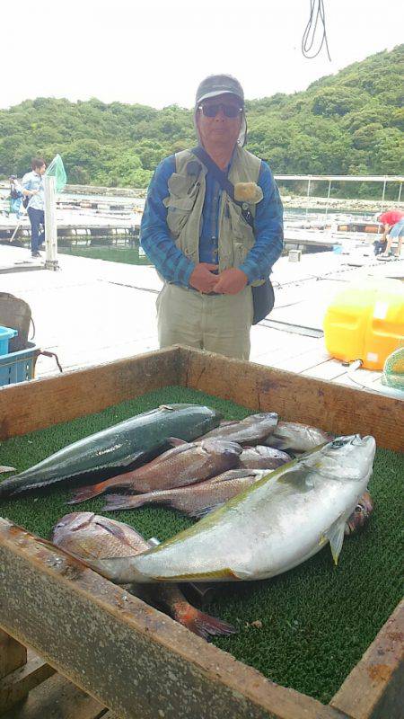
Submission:
[[[0,439],[100,412],[168,385],[336,433],[373,434],[380,447],[403,448],[399,400],[182,347],[0,389]],[[67,684],[69,697],[76,701],[83,691],[93,697],[85,716],[105,715],[103,707],[125,719],[402,716],[404,605],[324,706],[265,679],[6,519],[0,519],[0,581],[0,626],[43,658],[34,657],[38,680],[57,670],[75,685]],[[29,670],[22,681],[24,662],[24,649],[0,635],[0,667],[7,675],[0,681],[0,707],[4,696],[7,706],[13,703],[11,687],[18,678],[15,700],[38,683]],[[60,681],[66,679],[47,679],[43,695],[52,697]],[[34,714],[27,710],[26,716]]]

